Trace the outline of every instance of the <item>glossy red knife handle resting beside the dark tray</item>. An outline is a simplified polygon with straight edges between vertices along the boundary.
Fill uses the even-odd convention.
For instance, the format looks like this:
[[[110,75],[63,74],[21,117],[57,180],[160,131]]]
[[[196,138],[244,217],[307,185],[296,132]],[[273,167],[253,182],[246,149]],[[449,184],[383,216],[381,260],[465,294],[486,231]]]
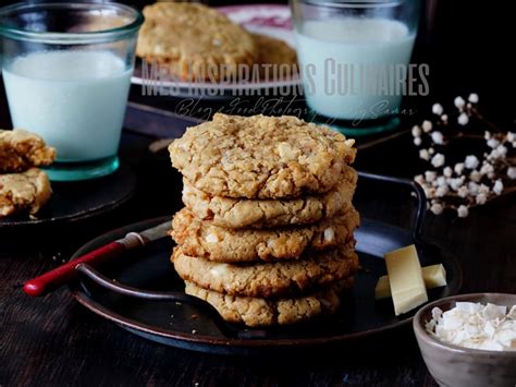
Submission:
[[[36,277],[25,282],[23,290],[28,295],[38,297],[63,286],[76,276],[75,267],[79,264],[96,266],[121,255],[125,251],[125,245],[120,242],[111,242],[100,249],[94,250],[76,259],[61,265],[42,276]]]

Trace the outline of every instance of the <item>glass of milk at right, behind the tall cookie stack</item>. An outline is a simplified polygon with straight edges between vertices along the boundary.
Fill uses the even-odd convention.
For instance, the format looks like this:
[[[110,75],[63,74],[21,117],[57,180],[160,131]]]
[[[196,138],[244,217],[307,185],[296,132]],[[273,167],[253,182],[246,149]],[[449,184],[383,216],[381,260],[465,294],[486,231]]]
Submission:
[[[419,1],[291,0],[291,8],[311,119],[352,135],[395,129]]]

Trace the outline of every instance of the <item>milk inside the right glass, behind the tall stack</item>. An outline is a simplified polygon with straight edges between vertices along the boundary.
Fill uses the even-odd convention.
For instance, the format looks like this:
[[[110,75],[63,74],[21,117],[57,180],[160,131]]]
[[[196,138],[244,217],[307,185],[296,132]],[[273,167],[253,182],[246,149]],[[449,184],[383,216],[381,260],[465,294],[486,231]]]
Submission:
[[[327,117],[354,120],[357,118],[370,119],[382,116],[378,111],[379,104],[386,101],[386,109],[400,107],[401,95],[378,96],[372,93],[361,93],[355,84],[353,95],[349,85],[352,76],[345,72],[342,76],[337,64],[348,64],[347,74],[358,80],[359,64],[408,64],[415,35],[401,22],[386,19],[330,19],[328,21],[308,21],[302,26],[303,34],[296,33],[297,52],[303,69],[307,64],[315,65],[315,74],[304,76],[306,98],[308,105],[318,113]],[[334,59],[335,72],[330,68],[327,59]],[[355,71],[352,72],[353,64]],[[312,68],[314,69],[314,68]],[[344,69],[341,65],[341,69]],[[377,73],[378,74],[378,73]],[[315,86],[310,93],[308,76]],[[378,78],[380,75],[376,75]],[[374,75],[372,76],[374,77]],[[373,78],[372,81],[376,81]],[[371,76],[369,76],[371,80]],[[327,82],[327,83],[325,83]],[[340,84],[331,89],[331,83]],[[347,86],[344,86],[347,84]]]

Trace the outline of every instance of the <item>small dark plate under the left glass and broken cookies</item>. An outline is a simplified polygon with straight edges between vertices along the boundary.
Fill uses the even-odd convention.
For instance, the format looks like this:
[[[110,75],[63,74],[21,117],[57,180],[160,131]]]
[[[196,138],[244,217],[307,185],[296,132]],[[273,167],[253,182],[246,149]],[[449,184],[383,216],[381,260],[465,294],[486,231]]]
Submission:
[[[37,215],[20,214],[0,219],[0,231],[20,227],[48,226],[84,220],[125,203],[136,189],[136,177],[125,167],[113,174],[79,182],[52,182],[52,197]]]

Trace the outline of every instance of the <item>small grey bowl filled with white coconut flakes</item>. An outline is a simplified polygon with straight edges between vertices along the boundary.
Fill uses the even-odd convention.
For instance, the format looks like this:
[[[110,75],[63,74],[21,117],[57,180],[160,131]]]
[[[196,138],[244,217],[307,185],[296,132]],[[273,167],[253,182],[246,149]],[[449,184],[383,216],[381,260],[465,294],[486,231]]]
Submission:
[[[440,386],[516,386],[516,294],[441,299],[420,309],[413,326]]]

